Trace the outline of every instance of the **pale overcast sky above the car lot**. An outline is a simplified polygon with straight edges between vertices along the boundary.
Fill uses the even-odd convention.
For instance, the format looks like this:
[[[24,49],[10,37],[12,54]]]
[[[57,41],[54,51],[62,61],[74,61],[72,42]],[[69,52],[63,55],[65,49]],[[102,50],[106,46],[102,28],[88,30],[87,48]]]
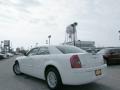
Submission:
[[[65,41],[66,26],[78,22],[79,40],[120,46],[120,0],[0,0],[0,41],[29,48]]]

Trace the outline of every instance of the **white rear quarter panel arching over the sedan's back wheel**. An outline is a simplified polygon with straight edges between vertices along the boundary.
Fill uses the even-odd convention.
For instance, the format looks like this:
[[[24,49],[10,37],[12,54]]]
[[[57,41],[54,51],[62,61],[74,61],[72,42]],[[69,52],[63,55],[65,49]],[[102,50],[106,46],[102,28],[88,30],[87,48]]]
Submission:
[[[52,65],[57,68],[57,70],[60,73],[60,76],[62,77],[63,74],[65,74],[67,71],[70,71],[70,68],[71,68],[70,56],[71,55],[67,55],[67,54],[51,55],[49,60],[44,63],[43,71],[45,72],[45,68],[48,65]],[[43,77],[45,79],[45,75]]]

